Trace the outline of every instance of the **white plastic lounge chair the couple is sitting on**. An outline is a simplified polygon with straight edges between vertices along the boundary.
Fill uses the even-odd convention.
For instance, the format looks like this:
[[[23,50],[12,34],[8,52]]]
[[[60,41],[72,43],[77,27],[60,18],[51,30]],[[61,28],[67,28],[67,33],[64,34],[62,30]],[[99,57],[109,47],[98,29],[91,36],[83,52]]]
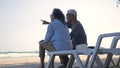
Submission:
[[[76,62],[78,63],[80,68],[92,68],[93,63],[96,59],[97,64],[101,67],[103,67],[100,58],[97,56],[97,52],[99,50],[101,41],[103,38],[105,37],[113,37],[113,36],[120,36],[120,32],[116,32],[116,33],[107,33],[107,34],[101,34],[98,37],[98,40],[96,42],[95,48],[94,49],[85,49],[85,50],[65,50],[65,51],[54,51],[54,52],[50,52],[50,60],[47,63],[46,68],[50,68],[50,65],[52,64],[51,62],[53,62],[55,56],[60,56],[60,55],[70,55],[70,60],[68,62],[68,65],[66,68],[71,68],[74,60],[76,59]],[[83,65],[81,59],[79,58],[79,55],[88,55],[91,56],[91,59],[87,59],[87,66]],[[97,57],[97,58],[96,58]]]

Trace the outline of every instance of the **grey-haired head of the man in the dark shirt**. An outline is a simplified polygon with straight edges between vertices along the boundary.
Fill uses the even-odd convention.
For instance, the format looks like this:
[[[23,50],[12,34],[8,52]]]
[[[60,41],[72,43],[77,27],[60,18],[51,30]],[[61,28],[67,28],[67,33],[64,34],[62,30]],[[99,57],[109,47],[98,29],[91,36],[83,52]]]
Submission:
[[[74,9],[70,9],[67,11],[67,21],[71,22],[73,20],[77,20],[77,12]]]

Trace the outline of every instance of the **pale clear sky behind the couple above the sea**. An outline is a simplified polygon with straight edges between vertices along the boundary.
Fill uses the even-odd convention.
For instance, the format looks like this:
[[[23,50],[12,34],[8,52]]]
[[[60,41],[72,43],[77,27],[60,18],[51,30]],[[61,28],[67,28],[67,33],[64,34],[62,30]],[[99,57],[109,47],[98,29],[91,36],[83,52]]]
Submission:
[[[120,32],[115,0],[0,0],[0,52],[38,50],[47,28],[40,19],[50,21],[53,8],[77,11],[89,45],[101,33]]]

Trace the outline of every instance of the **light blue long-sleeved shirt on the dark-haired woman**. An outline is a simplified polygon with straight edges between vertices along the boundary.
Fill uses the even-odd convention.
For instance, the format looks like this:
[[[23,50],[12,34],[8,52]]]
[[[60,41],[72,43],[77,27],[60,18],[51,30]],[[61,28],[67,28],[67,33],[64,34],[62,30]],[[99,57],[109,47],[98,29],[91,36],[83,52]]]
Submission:
[[[52,41],[56,50],[73,49],[68,28],[58,19],[54,19],[48,25],[45,42],[49,41]]]

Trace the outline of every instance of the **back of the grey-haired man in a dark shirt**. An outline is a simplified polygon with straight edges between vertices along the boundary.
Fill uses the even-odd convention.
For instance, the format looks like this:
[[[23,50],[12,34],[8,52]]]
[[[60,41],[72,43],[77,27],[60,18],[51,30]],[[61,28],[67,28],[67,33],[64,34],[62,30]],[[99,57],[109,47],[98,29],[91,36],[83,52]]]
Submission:
[[[70,33],[70,36],[73,40],[74,45],[87,44],[87,38],[86,38],[85,30],[84,30],[82,24],[79,21],[77,21],[72,26],[72,32]]]

